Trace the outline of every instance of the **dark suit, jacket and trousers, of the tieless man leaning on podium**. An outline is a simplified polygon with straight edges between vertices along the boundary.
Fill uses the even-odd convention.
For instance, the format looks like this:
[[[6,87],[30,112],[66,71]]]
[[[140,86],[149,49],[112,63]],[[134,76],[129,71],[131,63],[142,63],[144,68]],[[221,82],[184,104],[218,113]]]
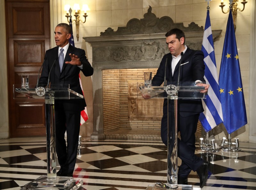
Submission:
[[[166,66],[166,81],[177,82],[179,75],[179,64],[174,69],[172,76],[172,55],[171,53],[164,55],[156,75],[152,79],[152,85],[160,86],[164,82],[165,62],[168,59]],[[180,82],[193,82],[196,80],[204,80],[204,54],[202,51],[191,50],[187,48],[182,56],[180,66]],[[171,108],[171,109],[170,109]],[[203,160],[195,155],[195,132],[199,113],[203,112],[201,99],[179,99],[178,100],[178,131],[180,131],[181,140],[178,139],[178,156],[182,160],[179,167],[178,175],[181,178],[187,178],[188,174],[203,163]],[[169,122],[170,132],[174,129],[174,113],[173,101],[169,101],[169,117],[172,120]],[[161,138],[167,145],[167,99],[164,100],[163,118],[161,123]]]

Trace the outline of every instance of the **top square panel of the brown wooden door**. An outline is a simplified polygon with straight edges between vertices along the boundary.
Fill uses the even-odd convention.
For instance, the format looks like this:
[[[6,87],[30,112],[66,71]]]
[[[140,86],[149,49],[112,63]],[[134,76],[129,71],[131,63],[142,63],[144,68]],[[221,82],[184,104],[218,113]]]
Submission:
[[[50,37],[49,0],[5,0],[7,34],[10,38]]]

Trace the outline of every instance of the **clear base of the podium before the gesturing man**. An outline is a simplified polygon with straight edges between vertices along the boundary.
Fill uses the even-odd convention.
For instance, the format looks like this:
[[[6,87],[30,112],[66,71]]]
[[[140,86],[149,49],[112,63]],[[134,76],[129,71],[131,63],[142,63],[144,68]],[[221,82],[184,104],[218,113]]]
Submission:
[[[46,175],[42,175],[27,185],[26,189],[65,189],[76,190],[83,185],[83,180],[74,180],[73,177],[57,176],[54,180],[47,179]],[[23,188],[23,187],[22,187]],[[22,189],[21,188],[21,189]]]

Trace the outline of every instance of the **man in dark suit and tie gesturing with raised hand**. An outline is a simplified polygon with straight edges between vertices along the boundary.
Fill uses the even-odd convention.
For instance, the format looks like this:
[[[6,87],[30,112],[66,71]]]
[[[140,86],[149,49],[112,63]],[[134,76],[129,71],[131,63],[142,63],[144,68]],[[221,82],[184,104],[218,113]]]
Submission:
[[[93,74],[93,68],[86,59],[85,51],[69,44],[71,27],[68,24],[58,24],[54,34],[57,47],[49,49],[45,53],[45,62],[39,84],[47,84],[52,68],[50,73],[51,84],[69,84],[71,90],[83,94],[79,82],[79,73],[82,71],[86,77]],[[73,176],[81,111],[84,110],[85,106],[84,99],[55,100],[56,152],[60,164],[60,171],[57,172],[57,176]],[[66,131],[68,146],[66,146],[65,140]]]

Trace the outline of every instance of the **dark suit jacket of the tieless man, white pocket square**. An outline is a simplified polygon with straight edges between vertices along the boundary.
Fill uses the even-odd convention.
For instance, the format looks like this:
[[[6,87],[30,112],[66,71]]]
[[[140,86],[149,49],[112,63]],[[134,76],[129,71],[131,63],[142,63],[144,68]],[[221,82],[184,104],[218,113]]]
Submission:
[[[171,53],[164,55],[160,66],[156,72],[156,75],[152,79],[153,86],[160,86],[164,82],[164,71],[165,71],[165,62],[167,61],[166,66],[166,81],[168,82],[177,82],[179,75],[179,66],[180,62],[175,67],[173,76],[172,76],[172,55]],[[183,64],[183,65],[182,65]],[[180,82],[194,82],[196,80],[204,80],[204,54],[199,50],[192,50],[187,48],[186,52],[181,58],[180,66]],[[170,104],[173,102],[170,101]],[[171,105],[169,105],[171,106]],[[178,110],[182,117],[193,115],[196,113],[201,113],[204,111],[202,106],[202,100],[196,99],[179,99],[178,100]],[[164,100],[163,113],[167,113],[167,99]]]

